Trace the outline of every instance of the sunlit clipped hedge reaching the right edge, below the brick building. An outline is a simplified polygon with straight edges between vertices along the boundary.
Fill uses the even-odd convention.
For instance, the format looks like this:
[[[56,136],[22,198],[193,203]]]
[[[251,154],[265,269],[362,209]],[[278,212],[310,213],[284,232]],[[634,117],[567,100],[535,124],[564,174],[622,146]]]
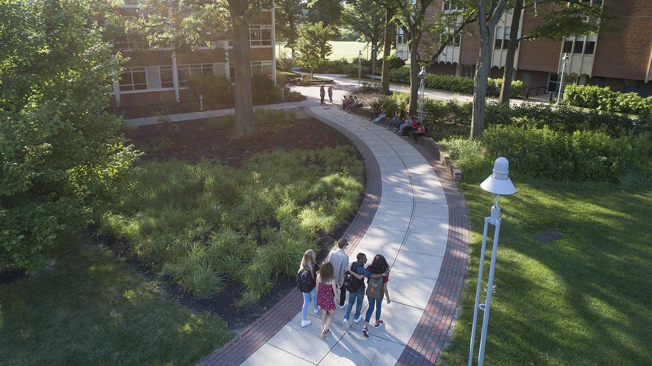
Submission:
[[[595,85],[567,85],[564,100],[576,107],[596,109],[606,113],[625,113],[652,121],[652,96],[643,98],[635,92],[615,92]]]

